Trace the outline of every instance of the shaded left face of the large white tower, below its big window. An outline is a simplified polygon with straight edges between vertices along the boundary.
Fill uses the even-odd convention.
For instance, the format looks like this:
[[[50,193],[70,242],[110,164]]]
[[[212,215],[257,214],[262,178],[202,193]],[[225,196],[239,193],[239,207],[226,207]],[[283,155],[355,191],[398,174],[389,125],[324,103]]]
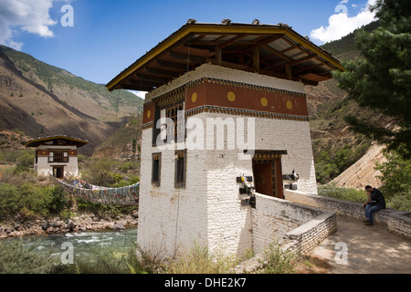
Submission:
[[[197,242],[207,244],[205,168],[200,153],[187,153],[184,189],[174,188],[174,150],[162,151],[160,186],[152,185],[152,128],[142,130],[137,242],[154,254],[174,255]]]

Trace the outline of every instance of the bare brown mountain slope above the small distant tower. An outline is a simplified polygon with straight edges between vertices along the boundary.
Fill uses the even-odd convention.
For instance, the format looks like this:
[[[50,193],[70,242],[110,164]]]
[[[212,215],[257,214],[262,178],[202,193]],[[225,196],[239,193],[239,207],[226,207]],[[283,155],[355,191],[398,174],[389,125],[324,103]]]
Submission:
[[[20,130],[32,138],[64,134],[88,140],[80,151],[90,155],[114,128],[68,106],[24,77],[0,51],[0,130]]]

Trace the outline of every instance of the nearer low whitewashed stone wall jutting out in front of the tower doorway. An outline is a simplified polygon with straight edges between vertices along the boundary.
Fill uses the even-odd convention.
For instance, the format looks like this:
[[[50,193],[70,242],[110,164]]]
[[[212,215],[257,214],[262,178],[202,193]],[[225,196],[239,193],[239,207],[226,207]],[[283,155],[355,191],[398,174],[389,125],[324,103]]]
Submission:
[[[253,249],[261,252],[276,239],[295,252],[307,252],[337,228],[335,212],[256,193],[251,209]]]

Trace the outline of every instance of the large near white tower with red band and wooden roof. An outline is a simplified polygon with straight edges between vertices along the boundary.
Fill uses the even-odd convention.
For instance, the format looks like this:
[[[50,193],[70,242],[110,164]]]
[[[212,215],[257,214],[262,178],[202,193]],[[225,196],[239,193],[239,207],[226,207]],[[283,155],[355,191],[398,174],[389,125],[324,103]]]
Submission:
[[[148,91],[138,244],[241,255],[256,245],[255,193],[317,193],[304,85],[336,69],[290,26],[191,21],[113,78]]]

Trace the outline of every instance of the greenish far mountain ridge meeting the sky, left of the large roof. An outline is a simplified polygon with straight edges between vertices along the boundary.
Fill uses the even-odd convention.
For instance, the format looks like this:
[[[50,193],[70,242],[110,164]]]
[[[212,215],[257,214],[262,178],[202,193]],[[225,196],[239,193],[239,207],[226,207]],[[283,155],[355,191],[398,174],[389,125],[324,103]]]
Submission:
[[[104,85],[79,78],[10,47],[0,50],[22,75],[68,106],[103,121],[115,121],[142,110],[142,99],[127,90],[108,91]]]

